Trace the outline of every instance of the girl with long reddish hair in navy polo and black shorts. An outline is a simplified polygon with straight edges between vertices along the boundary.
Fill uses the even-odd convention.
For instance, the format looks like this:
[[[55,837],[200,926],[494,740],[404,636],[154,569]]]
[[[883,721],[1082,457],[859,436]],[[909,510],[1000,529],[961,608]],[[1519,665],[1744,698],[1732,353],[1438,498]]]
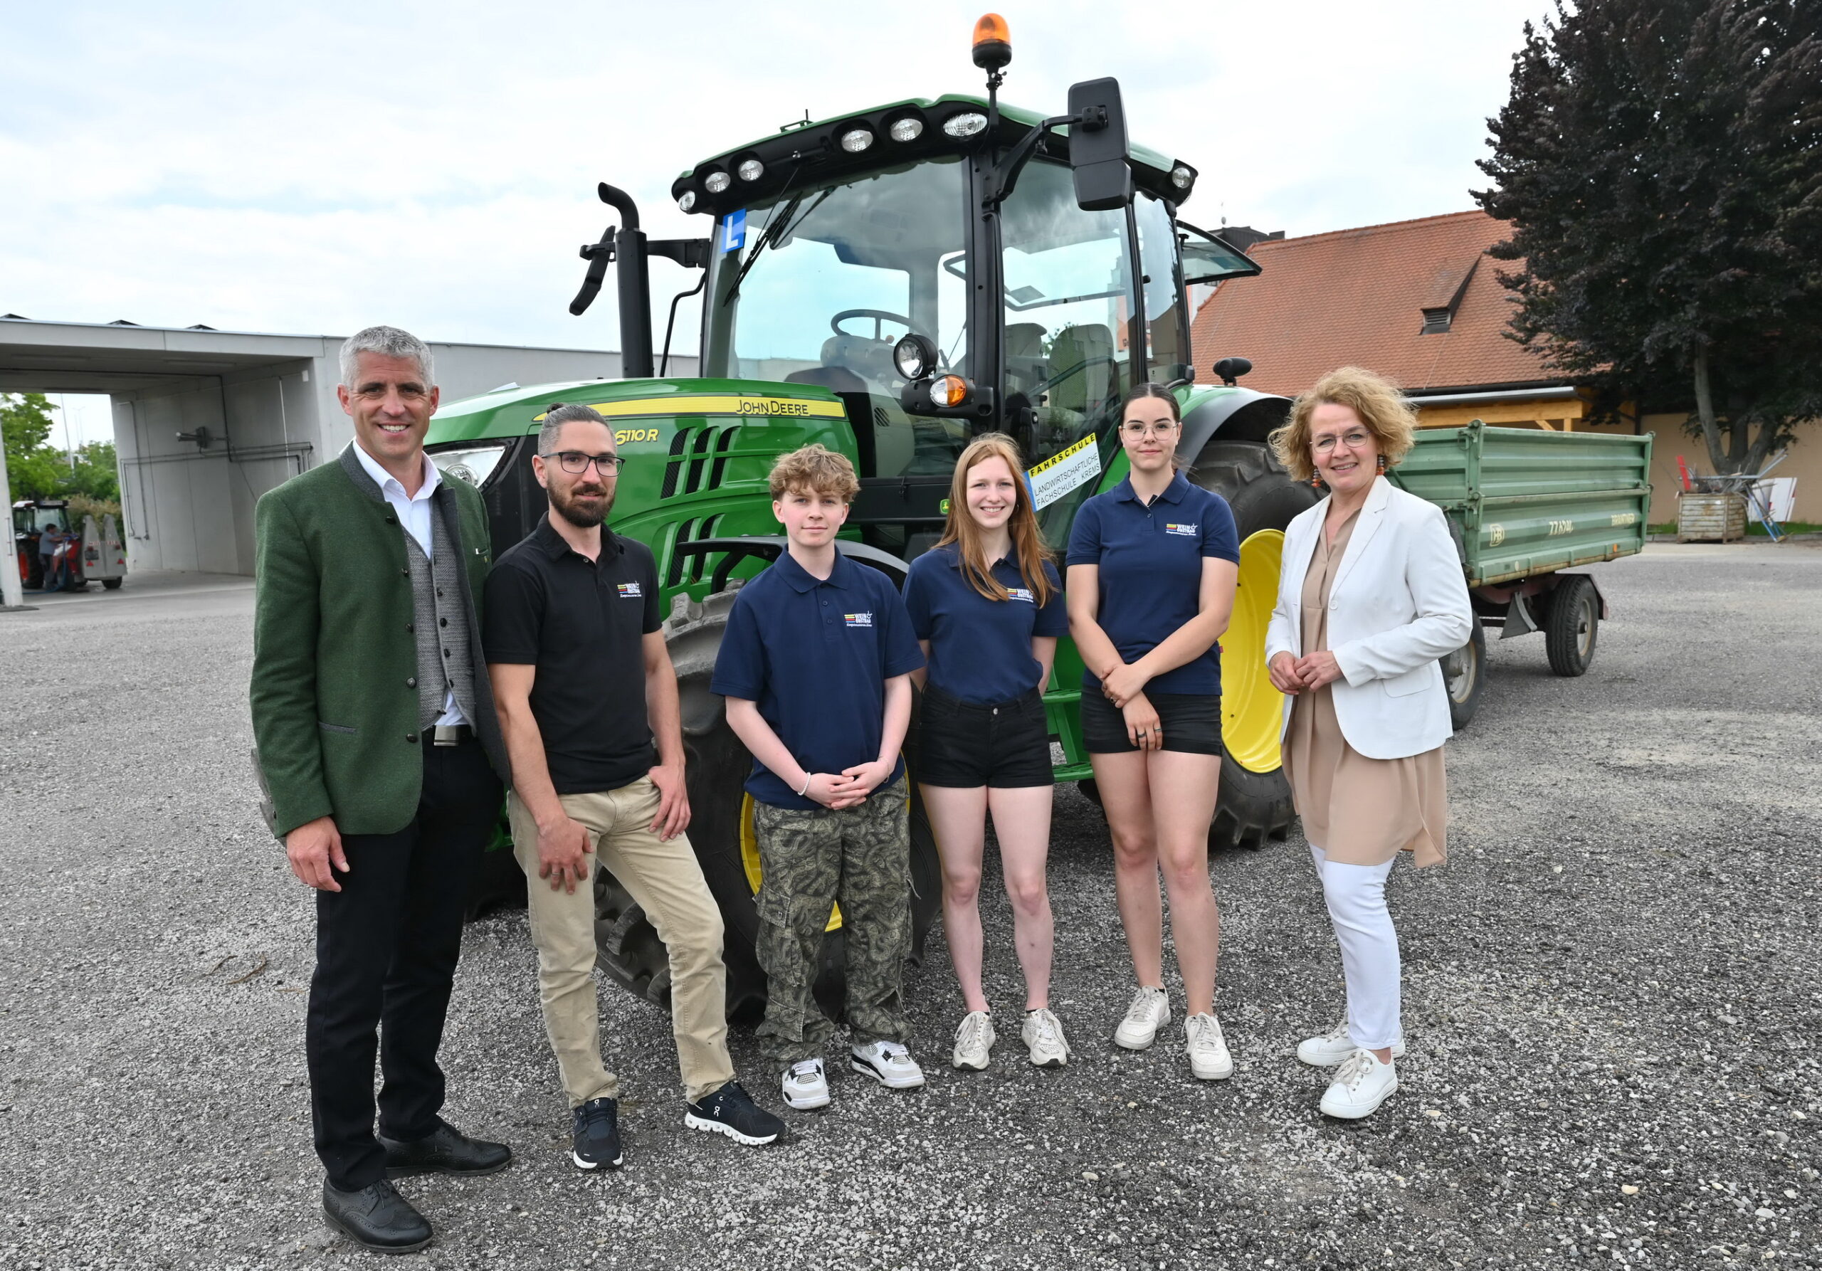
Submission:
[[[904,592],[927,659],[926,670],[911,672],[924,690],[916,779],[942,856],[942,925],[967,1007],[951,1063],[975,1071],[988,1067],[995,1042],[980,991],[980,856],[989,812],[1026,978],[1022,1038],[1035,1065],[1070,1062],[1049,1011],[1051,770],[1042,699],[1070,617],[1022,470],[1004,433],[977,437],[962,452],[942,541],[911,563]]]

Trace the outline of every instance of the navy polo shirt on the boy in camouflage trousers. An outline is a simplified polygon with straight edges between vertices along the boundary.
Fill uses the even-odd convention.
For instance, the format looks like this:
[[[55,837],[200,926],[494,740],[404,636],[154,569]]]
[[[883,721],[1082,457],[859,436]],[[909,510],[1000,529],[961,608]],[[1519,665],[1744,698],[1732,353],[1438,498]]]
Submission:
[[[805,772],[844,772],[880,758],[885,681],[924,665],[893,581],[836,554],[816,579],[791,554],[740,588],[709,690],[758,703]],[[904,758],[887,783],[906,770]],[[758,759],[747,794],[780,808],[800,798]]]

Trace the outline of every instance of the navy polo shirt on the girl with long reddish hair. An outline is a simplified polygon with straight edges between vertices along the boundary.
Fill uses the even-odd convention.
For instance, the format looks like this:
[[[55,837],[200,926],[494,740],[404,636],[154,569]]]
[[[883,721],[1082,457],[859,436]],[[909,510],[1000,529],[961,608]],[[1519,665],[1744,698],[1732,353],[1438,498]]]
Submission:
[[[1033,636],[1068,636],[1057,566],[1044,561],[1049,601],[1039,606],[1011,555],[993,563],[993,577],[1011,592],[991,601],[962,574],[962,544],[946,543],[911,561],[906,608],[911,634],[929,641],[929,683],[962,701],[993,705],[1042,688],[1044,668],[1031,656]]]

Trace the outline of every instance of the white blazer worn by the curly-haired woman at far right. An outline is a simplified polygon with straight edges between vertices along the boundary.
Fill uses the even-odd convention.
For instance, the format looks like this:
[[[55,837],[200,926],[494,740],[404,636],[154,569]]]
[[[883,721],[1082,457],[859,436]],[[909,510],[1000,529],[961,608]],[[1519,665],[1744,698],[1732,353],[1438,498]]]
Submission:
[[[1268,663],[1303,656],[1303,575],[1326,515],[1323,499],[1285,530]],[[1376,479],[1328,586],[1328,652],[1341,666],[1336,719],[1348,745],[1368,759],[1401,759],[1448,741],[1448,690],[1436,659],[1467,645],[1472,623],[1443,510]],[[1285,697],[1281,739],[1292,705]]]

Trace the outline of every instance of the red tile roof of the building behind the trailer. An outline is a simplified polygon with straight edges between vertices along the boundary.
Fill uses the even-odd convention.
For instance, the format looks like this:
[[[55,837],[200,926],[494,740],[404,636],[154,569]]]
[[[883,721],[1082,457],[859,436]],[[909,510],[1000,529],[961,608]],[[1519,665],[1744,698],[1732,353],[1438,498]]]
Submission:
[[[1195,364],[1250,357],[1241,382],[1297,393],[1337,366],[1365,366],[1407,391],[1565,384],[1505,339],[1512,297],[1485,255],[1507,226],[1483,211],[1270,239],[1248,249],[1263,273],[1232,279],[1197,311]],[[1463,279],[1467,286],[1463,288]],[[1423,335],[1423,310],[1459,293],[1447,333]]]

